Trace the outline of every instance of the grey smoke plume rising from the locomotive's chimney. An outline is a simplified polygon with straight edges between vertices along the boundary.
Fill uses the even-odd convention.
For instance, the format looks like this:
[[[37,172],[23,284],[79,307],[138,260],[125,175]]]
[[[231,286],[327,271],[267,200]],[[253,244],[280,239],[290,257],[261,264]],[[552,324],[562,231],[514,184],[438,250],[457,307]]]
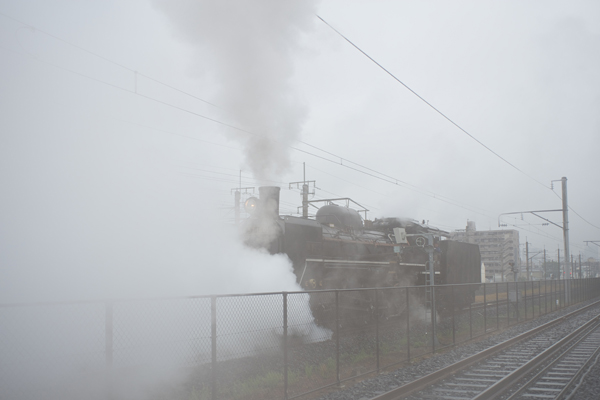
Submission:
[[[197,68],[216,80],[215,103],[252,132],[236,137],[258,179],[272,179],[288,167],[288,146],[305,118],[291,84],[292,56],[314,24],[316,3],[156,0],[179,37],[197,48]]]

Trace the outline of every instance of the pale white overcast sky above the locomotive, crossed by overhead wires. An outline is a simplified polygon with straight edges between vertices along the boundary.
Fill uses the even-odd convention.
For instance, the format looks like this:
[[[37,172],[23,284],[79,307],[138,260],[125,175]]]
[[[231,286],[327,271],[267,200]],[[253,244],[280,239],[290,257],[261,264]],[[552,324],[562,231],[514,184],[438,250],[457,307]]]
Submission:
[[[302,180],[303,162],[307,179],[317,182],[316,199],[351,197],[370,209],[371,218],[424,219],[446,230],[464,228],[467,220],[480,230],[497,229],[501,213],[561,208],[560,199],[539,182],[549,186],[566,176],[569,204],[600,227],[597,1],[324,0],[298,10],[304,13],[298,17],[301,33],[281,37],[277,14],[261,12],[269,10],[269,2],[225,2],[247,8],[230,24],[196,3],[203,4],[0,1],[5,14],[0,15],[0,268],[5,276],[21,269],[39,272],[44,264],[43,279],[69,263],[78,266],[68,269],[70,274],[85,275],[86,268],[79,268],[85,260],[103,265],[119,258],[128,265],[139,262],[147,247],[172,260],[168,246],[161,253],[161,238],[187,240],[217,207],[219,218],[231,221],[230,190],[240,170],[244,187],[282,186],[282,213],[296,212],[299,192],[288,190],[287,183]],[[524,173],[436,114],[313,11]],[[266,25],[258,26],[268,27],[261,31],[267,39],[255,40],[258,30],[245,30],[252,18],[265,19]],[[244,52],[234,52],[235,65],[219,63],[215,51],[221,47],[210,35],[229,31],[232,43],[235,35],[259,45],[277,36],[276,49],[289,58],[254,64],[257,60],[245,62]],[[132,71],[237,108],[215,108],[142,75],[136,94]],[[262,74],[256,91],[240,89],[238,97],[236,86],[223,78],[232,71],[239,71],[241,83],[235,85],[240,87],[253,71]],[[275,82],[279,75],[283,85]],[[265,110],[258,99],[261,87],[280,96],[281,104]],[[289,104],[297,109],[286,109]],[[282,167],[285,158],[273,164],[266,174],[271,181],[253,175],[241,150],[247,134],[201,117],[255,131],[241,126],[247,119],[239,115],[254,116],[255,109],[264,112],[266,125],[272,118],[277,127],[286,127],[282,130],[289,127],[272,133],[287,149],[289,167]],[[295,119],[286,119],[292,114]],[[339,158],[294,140],[418,189],[353,171],[339,165]],[[335,162],[291,150],[287,143]],[[267,153],[261,157],[281,157]],[[560,194],[560,183],[554,191]],[[561,223],[559,213],[547,217]],[[590,249],[585,240],[600,240],[600,229],[573,212],[569,218],[571,251],[578,255]],[[546,246],[555,254],[563,247],[560,229],[541,226],[533,216],[504,222],[518,225],[521,241],[527,237],[533,251]],[[161,265],[166,264],[155,268]],[[17,288],[18,282],[4,280]]]

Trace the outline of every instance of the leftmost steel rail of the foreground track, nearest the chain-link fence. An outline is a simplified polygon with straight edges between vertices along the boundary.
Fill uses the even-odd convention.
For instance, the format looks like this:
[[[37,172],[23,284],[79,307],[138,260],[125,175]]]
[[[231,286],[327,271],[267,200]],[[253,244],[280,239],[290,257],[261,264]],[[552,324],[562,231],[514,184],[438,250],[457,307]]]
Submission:
[[[409,396],[412,393],[423,390],[426,387],[434,384],[435,382],[438,382],[450,375],[453,375],[462,369],[468,368],[468,367],[478,363],[479,361],[482,361],[482,360],[492,356],[493,354],[496,354],[496,353],[498,353],[498,352],[500,352],[522,340],[525,340],[531,336],[534,336],[534,335],[540,333],[541,331],[544,331],[548,328],[558,325],[558,324],[564,322],[565,320],[569,319],[570,317],[573,317],[577,314],[587,311],[588,309],[595,307],[597,305],[600,305],[600,301],[595,301],[595,302],[588,304],[587,306],[582,307],[578,310],[575,310],[569,314],[566,314],[559,318],[553,319],[552,321],[549,321],[549,322],[547,322],[543,325],[540,325],[536,328],[530,329],[527,332],[517,335],[511,339],[508,339],[502,343],[499,343],[495,346],[485,349],[477,354],[474,354],[470,357],[460,360],[460,361],[458,361],[454,364],[451,364],[447,367],[439,369],[429,375],[423,376],[423,377],[418,378],[418,379],[416,379],[412,382],[409,382],[405,385],[397,387],[396,389],[392,389],[386,393],[382,393],[378,396],[375,396],[375,397],[371,398],[371,400],[397,400],[402,397]]]

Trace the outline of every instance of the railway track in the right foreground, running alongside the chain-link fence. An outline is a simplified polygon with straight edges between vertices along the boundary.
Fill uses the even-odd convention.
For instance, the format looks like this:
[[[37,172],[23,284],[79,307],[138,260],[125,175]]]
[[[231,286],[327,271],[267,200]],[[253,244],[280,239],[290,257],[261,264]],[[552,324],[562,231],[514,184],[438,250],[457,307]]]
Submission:
[[[600,349],[600,316],[577,310],[372,400],[563,399]],[[566,333],[568,332],[568,333]]]

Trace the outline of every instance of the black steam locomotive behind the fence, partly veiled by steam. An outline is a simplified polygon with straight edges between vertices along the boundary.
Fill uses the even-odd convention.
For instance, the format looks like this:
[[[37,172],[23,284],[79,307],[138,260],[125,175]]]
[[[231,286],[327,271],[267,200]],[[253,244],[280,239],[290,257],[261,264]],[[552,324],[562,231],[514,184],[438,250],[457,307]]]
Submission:
[[[429,285],[431,265],[435,284],[481,282],[479,246],[445,240],[448,232],[410,219],[363,220],[358,211],[335,204],[320,207],[314,219],[280,216],[279,192],[279,187],[261,187],[259,198],[247,201],[246,243],[285,253],[305,290]],[[461,290],[452,307],[471,302],[475,290]],[[367,291],[347,293],[343,318],[366,322],[372,297]],[[384,295],[381,301],[385,306],[377,309],[386,317],[408,311],[398,299]],[[331,307],[330,298],[311,294],[313,316],[322,325],[330,325]]]

